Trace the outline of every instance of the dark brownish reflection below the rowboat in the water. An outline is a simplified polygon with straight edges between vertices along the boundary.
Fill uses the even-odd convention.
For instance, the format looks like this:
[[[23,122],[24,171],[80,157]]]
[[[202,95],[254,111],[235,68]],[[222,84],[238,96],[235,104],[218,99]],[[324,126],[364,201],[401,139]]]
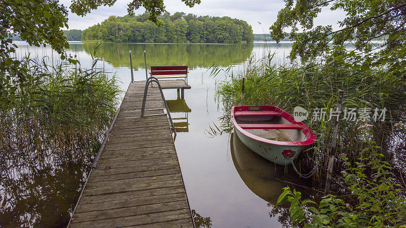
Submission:
[[[284,187],[289,186],[292,191],[295,188],[301,192],[301,199],[317,202],[321,197],[321,193],[314,190],[317,186],[312,186],[315,181],[300,178],[291,165],[276,165],[260,157],[244,145],[235,132],[231,134],[230,149],[232,161],[241,179],[255,195],[268,202],[268,206],[272,208],[269,215],[279,215],[278,220],[283,225],[290,225],[290,204],[277,206],[276,203]]]

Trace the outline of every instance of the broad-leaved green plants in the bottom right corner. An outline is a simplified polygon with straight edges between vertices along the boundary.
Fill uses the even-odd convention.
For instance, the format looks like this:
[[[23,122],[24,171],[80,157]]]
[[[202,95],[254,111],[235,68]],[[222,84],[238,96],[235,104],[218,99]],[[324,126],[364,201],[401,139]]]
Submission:
[[[374,141],[369,141],[369,158],[361,158],[356,167],[351,167],[348,158],[342,159],[347,170],[342,171],[349,196],[328,195],[320,203],[301,200],[300,192],[289,187],[278,199],[278,204],[290,202],[290,217],[295,225],[304,227],[403,227],[406,219],[406,198],[394,184],[395,175],[388,162],[382,161],[382,154]]]

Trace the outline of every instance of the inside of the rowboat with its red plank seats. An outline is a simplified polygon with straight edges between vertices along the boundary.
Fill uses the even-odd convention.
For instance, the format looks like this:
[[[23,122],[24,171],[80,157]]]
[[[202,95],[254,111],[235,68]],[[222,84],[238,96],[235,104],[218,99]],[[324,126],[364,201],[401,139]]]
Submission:
[[[250,110],[251,109],[251,110]],[[245,131],[275,141],[305,141],[306,135],[297,124],[292,124],[281,113],[249,106],[248,110],[234,110],[236,123]]]

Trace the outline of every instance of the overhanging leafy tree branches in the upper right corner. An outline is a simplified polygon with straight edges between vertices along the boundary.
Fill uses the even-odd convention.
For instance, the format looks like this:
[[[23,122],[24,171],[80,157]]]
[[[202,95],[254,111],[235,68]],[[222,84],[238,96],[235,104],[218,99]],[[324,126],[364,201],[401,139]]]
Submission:
[[[343,10],[346,18],[340,28],[314,26],[314,19],[328,8]],[[289,57],[307,62],[324,57],[327,63],[367,70],[386,66],[389,73],[404,78],[406,67],[406,2],[404,0],[286,0],[277,21],[270,26],[272,39],[279,42],[286,35],[295,40]],[[299,32],[299,27],[302,29]],[[291,28],[290,34],[285,28]],[[376,44],[374,40],[381,40]],[[332,42],[332,47],[328,43]],[[355,50],[345,49],[346,43]]]

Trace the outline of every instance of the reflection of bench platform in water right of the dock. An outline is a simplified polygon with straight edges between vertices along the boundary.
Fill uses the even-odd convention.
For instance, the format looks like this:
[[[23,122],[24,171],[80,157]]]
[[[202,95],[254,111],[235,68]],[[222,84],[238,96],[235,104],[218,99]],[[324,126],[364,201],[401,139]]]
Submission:
[[[185,99],[178,96],[176,100],[166,100],[166,104],[171,112],[176,132],[189,132],[188,113],[192,112],[192,109],[187,106]],[[184,113],[184,115],[173,115],[173,113]]]

